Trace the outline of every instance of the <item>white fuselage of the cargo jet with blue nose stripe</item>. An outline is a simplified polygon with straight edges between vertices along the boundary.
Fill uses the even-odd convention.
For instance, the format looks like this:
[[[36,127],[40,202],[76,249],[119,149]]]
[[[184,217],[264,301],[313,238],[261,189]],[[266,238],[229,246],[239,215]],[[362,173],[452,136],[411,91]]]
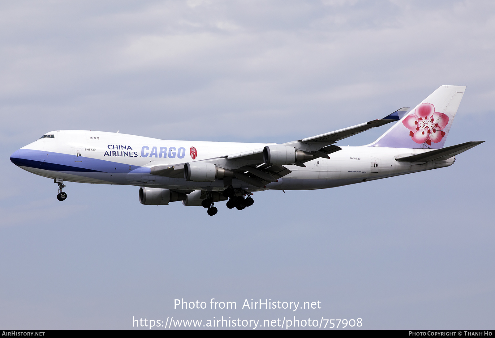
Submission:
[[[182,177],[151,175],[148,168],[219,158],[269,145],[160,140],[87,130],[52,131],[49,134],[54,135],[54,138],[41,138],[14,153],[22,160],[16,164],[35,174],[60,178],[64,181],[182,190],[221,191],[224,185],[221,180],[190,182]],[[251,186],[237,179],[233,180],[232,186],[249,191],[323,189],[446,167],[455,160],[452,157],[445,161],[425,164],[396,161],[397,157],[425,151],[428,150],[370,146],[343,147],[342,150],[330,154],[330,159],[319,158],[306,162],[305,168],[295,165],[286,166],[292,170],[292,173],[263,188]],[[233,161],[230,161],[231,166],[232,164]],[[242,166],[243,164],[239,163],[238,168]]]

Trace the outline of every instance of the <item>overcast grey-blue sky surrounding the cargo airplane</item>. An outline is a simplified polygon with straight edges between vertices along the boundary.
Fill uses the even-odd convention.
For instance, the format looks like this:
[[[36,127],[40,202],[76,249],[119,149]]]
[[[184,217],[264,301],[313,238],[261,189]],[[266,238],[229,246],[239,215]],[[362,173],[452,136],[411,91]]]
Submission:
[[[493,1],[1,2],[0,327],[295,315],[173,309],[271,298],[363,328],[493,328],[494,51]],[[59,129],[287,142],[442,84],[467,85],[445,145],[487,140],[453,166],[255,193],[214,217],[142,206],[131,186],[67,183],[61,203],[9,161]]]

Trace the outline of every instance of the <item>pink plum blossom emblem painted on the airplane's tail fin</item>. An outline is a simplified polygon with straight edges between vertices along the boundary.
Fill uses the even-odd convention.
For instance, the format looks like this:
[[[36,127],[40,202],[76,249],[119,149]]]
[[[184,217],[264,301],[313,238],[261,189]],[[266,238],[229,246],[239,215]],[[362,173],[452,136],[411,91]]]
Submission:
[[[435,112],[431,103],[421,103],[414,114],[402,120],[402,124],[410,130],[409,136],[414,142],[431,145],[442,141],[445,136],[442,129],[448,124],[448,116]]]

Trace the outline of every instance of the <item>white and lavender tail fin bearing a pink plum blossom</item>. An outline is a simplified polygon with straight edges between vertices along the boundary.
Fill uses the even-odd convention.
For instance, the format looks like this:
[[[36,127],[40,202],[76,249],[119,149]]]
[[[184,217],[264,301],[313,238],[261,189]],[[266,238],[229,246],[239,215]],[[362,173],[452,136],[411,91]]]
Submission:
[[[370,146],[442,148],[464,90],[463,85],[440,86]]]

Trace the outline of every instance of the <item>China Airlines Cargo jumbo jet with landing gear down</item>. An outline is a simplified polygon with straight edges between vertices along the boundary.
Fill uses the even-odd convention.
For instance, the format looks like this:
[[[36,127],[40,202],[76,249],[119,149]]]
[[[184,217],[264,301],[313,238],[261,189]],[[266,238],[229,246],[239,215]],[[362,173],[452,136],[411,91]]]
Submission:
[[[161,140],[104,131],[56,130],[15,151],[17,166],[54,179],[59,201],[64,181],[127,184],[145,205],[182,201],[217,213],[215,202],[243,210],[253,191],[332,188],[448,167],[455,156],[484,141],[444,148],[465,86],[443,85],[407,112],[297,141],[231,143]],[[335,143],[396,122],[375,142]],[[246,198],[245,198],[246,196]]]

